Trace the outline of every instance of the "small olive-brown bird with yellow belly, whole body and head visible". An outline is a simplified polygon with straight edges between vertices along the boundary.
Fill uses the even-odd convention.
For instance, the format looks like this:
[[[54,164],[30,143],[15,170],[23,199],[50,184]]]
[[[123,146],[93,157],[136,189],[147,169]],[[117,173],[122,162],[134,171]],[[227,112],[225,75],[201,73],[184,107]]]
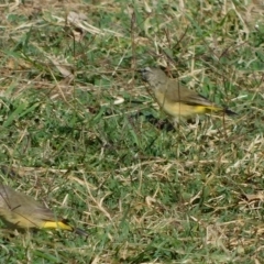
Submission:
[[[157,103],[168,116],[175,118],[189,118],[196,113],[235,112],[221,108],[209,101],[196,91],[189,90],[177,79],[172,79],[160,68],[146,67],[141,70],[142,79],[147,81],[154,91]]]

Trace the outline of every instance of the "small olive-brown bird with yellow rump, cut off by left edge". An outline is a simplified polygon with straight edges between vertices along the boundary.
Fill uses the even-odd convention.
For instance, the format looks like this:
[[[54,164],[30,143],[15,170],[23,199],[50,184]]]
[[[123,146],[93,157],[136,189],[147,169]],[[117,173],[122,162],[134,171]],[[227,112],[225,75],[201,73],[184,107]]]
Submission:
[[[62,229],[87,237],[35,199],[0,184],[0,218],[13,229]]]

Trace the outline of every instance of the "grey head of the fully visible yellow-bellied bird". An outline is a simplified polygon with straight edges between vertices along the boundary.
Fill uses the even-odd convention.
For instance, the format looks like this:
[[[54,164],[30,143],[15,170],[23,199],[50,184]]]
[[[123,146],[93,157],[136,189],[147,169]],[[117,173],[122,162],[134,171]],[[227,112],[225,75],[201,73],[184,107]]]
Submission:
[[[167,81],[166,74],[160,68],[146,67],[141,69],[142,79],[147,81],[151,86],[163,85]]]

